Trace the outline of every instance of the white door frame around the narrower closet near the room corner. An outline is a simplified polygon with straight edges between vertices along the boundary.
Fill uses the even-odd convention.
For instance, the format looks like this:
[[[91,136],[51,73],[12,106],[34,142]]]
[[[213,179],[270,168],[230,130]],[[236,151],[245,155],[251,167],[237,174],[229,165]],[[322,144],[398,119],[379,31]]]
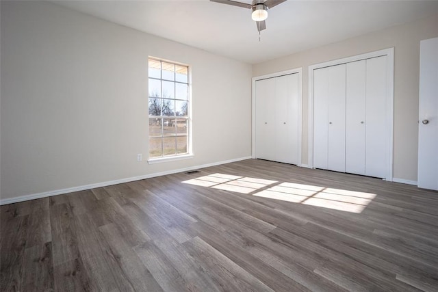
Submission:
[[[252,79],[252,90],[251,90],[251,108],[252,108],[252,115],[251,115],[251,157],[255,159],[255,82],[258,80],[263,80],[267,78],[273,78],[273,77],[281,77],[284,75],[289,74],[298,74],[298,163],[297,166],[302,166],[301,161],[301,147],[302,147],[302,68],[294,68],[290,70],[285,70],[281,72],[275,72],[268,75],[261,75],[257,77],[253,77]]]

